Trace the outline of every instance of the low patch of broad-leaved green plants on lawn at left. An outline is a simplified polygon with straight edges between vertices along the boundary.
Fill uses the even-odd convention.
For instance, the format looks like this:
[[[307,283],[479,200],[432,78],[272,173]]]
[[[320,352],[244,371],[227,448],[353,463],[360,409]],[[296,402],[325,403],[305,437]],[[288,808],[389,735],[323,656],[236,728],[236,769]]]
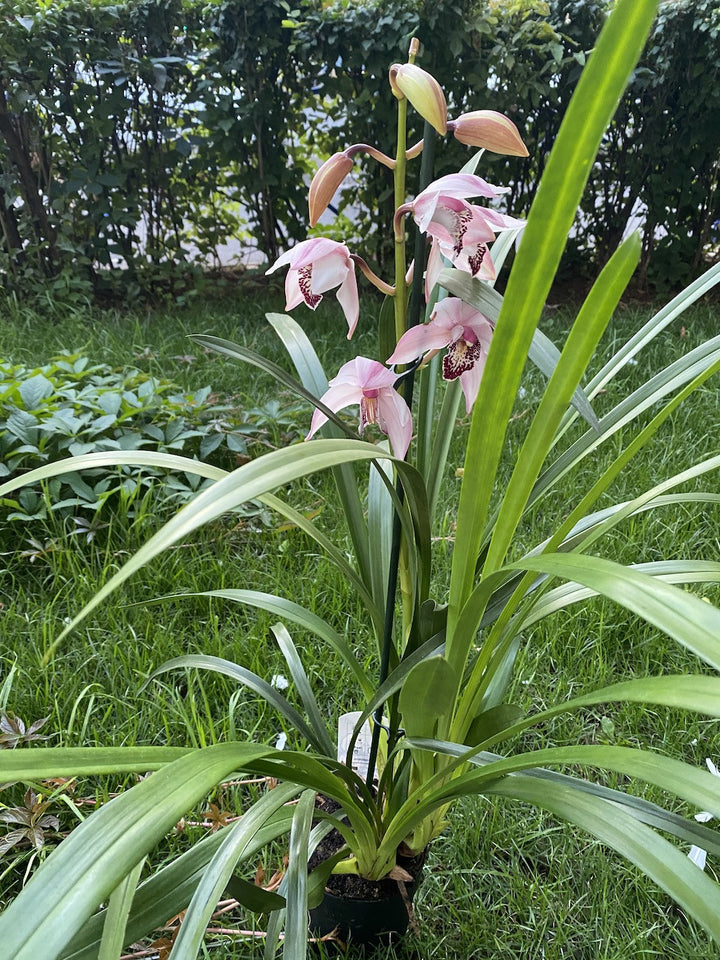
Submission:
[[[157,450],[236,466],[248,446],[274,447],[297,438],[302,411],[275,401],[267,409],[243,411],[234,398],[220,402],[209,386],[182,392],[169,380],[134,368],[91,365],[78,353],[64,353],[29,368],[0,361],[0,477],[44,463],[112,450]],[[75,532],[92,540],[102,524],[97,514],[111,502],[134,517],[144,493],[157,488],[170,503],[198,492],[198,477],[175,476],[157,484],[156,471],[142,475],[129,467],[69,473],[40,490],[24,488],[6,500],[8,520],[46,520],[51,512],[73,517]],[[92,514],[77,522],[78,511]]]

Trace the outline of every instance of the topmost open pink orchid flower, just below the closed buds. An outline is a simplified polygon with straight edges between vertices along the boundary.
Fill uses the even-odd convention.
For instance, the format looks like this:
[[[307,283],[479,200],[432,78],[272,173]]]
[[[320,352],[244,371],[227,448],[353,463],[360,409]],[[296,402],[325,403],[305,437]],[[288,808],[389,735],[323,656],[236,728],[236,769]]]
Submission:
[[[427,286],[432,288],[439,272],[440,254],[459,269],[474,277],[493,280],[495,268],[488,252],[488,243],[501,230],[523,226],[522,220],[505,216],[489,207],[468,203],[468,197],[498,197],[505,188],[493,187],[482,177],[470,173],[440,177],[412,203],[415,222],[423,233],[433,238],[431,265]]]

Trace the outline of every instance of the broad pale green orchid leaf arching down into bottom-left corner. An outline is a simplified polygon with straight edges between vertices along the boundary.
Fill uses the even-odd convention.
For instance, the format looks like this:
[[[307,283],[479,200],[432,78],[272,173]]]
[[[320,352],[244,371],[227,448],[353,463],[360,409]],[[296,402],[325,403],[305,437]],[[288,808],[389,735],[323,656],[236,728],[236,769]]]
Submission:
[[[0,915],[6,956],[54,960],[193,804],[233,770],[273,752],[239,743],[194,750],[97,810],[53,851]]]

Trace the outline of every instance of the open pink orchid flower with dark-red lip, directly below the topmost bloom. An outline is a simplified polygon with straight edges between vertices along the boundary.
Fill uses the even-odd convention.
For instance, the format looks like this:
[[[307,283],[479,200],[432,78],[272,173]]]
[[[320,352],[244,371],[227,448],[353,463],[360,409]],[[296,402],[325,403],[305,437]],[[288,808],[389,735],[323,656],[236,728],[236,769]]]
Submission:
[[[429,323],[411,327],[400,337],[388,363],[412,363],[417,357],[447,347],[443,377],[460,378],[465,409],[470,413],[480,389],[492,332],[492,324],[482,313],[457,297],[447,297],[438,303]]]

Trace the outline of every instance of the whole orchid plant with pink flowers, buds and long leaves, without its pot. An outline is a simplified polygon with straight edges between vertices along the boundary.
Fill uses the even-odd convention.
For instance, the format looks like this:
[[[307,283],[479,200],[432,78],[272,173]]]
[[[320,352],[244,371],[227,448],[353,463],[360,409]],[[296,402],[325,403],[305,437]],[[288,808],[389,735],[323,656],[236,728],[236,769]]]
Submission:
[[[673,558],[622,564],[613,558],[612,548],[609,556],[598,553],[609,535],[640,513],[687,502],[717,502],[713,492],[686,492],[689,483],[713,476],[720,466],[715,456],[632,499],[599,506],[612,482],[634,457],[642,456],[683,400],[720,369],[720,338],[688,351],[601,417],[592,408],[593,399],[624,365],[720,280],[720,266],[660,310],[584,386],[597,343],[637,264],[637,238],[625,240],[602,271],[562,350],[537,330],[593,157],[655,10],[654,0],[620,0],[615,6],[578,84],[526,224],[498,214],[492,206],[470,202],[478,196],[492,200],[498,192],[474,172],[481,162],[478,156],[459,174],[438,180],[432,175],[436,133],[451,131],[481,149],[521,154],[524,147],[515,126],[488,111],[448,119],[443,91],[414,62],[413,46],[408,63],[391,67],[398,101],[395,156],[367,145],[335,154],[313,181],[310,217],[315,220],[331,200],[355,153],[370,153],[389,167],[395,178],[394,283],[376,277],[344,244],[327,238],[300,243],[273,266],[288,269],[288,309],[302,301],[314,309],[324,294],[335,290],[350,335],[364,319],[355,275],[359,267],[388,298],[380,314],[377,358],[356,357],[328,382],[302,328],[279,314],[270,315],[269,321],[290,354],[297,379],[230,342],[198,338],[229,357],[255,364],[309,400],[316,408],[311,439],[272,451],[232,473],[164,455],[169,469],[182,464],[215,482],[140,548],[57,643],[143,565],[249,500],[278,511],[313,539],[315,548],[357,590],[366,622],[353,624],[352,635],[344,636],[290,597],[242,587],[214,592],[281,619],[273,633],[301,707],[277,686],[230,660],[186,655],[156,671],[197,667],[235,678],[278,710],[295,731],[297,749],[227,742],[202,749],[4,751],[2,781],[156,771],[89,816],[0,917],[2,943],[17,960],[96,957],[102,943],[132,942],[186,907],[170,956],[194,957],[234,871],[263,844],[288,834],[290,865],[275,894],[283,898],[284,907],[277,909],[277,899],[266,905],[272,911],[267,950],[272,953],[284,919],[284,954],[303,957],[307,905],[322,896],[330,869],[370,881],[389,876],[404,882],[399,852],[421,854],[452,824],[453,803],[470,795],[479,804],[494,797],[535,804],[589,832],[635,864],[720,942],[720,889],[687,856],[691,845],[712,855],[720,852],[720,843],[711,827],[677,812],[679,799],[718,816],[717,778],[641,748],[593,743],[550,748],[542,746],[539,736],[520,739],[524,733],[540,733],[543,724],[563,714],[607,703],[720,716],[720,610],[677,586],[717,582],[720,563]],[[425,121],[425,135],[408,148],[409,108]],[[409,201],[406,164],[420,153],[421,189]],[[419,228],[412,268],[406,255],[410,219]],[[501,297],[493,289],[494,276],[520,234]],[[432,244],[424,268],[427,237]],[[426,322],[420,323],[423,301]],[[512,473],[501,478],[508,421],[528,357],[547,383]],[[438,597],[433,595],[433,514],[461,403],[471,411],[471,426],[450,582],[447,596]],[[355,425],[338,416],[347,406],[359,407],[362,438]],[[315,436],[318,433],[321,436]],[[371,442],[373,438],[379,442]],[[617,451],[614,461],[601,472],[586,470],[587,458],[604,443]],[[117,462],[117,456],[76,457],[33,471],[26,480]],[[120,459],[125,463],[133,457],[136,463],[144,462],[137,453]],[[153,464],[162,460],[157,454]],[[276,493],[319,470],[334,474],[352,544],[350,558],[333,532],[320,529]],[[524,518],[562,492],[569,471],[585,471],[586,492],[578,502],[562,502],[552,533],[528,549],[521,534]],[[366,495],[360,492],[363,478],[369,478]],[[0,494],[8,495],[19,483],[4,484]],[[697,671],[642,676],[630,664],[629,679],[536,712],[528,714],[508,702],[523,631],[595,595],[626,608],[696,655],[701,661]],[[358,709],[339,755],[335,726],[318,706],[288,625],[315,633],[345,663],[355,684]],[[368,648],[373,637],[375,651]],[[377,672],[368,667],[371,653],[376,654]],[[367,728],[370,748],[361,758],[355,747]],[[668,806],[611,789],[602,776],[581,777],[578,767],[651,784],[667,793]],[[213,834],[134,890],[138,865],[148,852],[189,807],[237,770],[281,785],[265,792],[231,829]],[[315,794],[333,801],[333,809],[317,813],[319,823],[313,828]],[[287,805],[295,799],[296,804]],[[308,875],[308,854],[331,827],[339,831],[343,846],[331,862]],[[263,909],[257,899],[255,909]],[[118,916],[127,916],[124,933],[117,930]]]

